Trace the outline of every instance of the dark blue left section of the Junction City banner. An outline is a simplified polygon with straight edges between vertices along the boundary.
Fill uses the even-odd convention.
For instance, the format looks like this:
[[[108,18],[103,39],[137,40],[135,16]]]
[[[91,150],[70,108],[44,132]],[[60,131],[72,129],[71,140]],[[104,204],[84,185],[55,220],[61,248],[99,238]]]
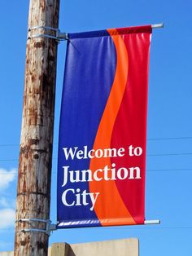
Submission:
[[[107,31],[103,33],[106,36],[98,38],[95,38],[95,33],[94,38],[91,33],[85,33],[86,39],[79,38],[78,33],[68,35],[59,127],[58,228],[67,227],[62,223],[68,222],[74,222],[75,227],[99,226],[94,210],[90,210],[89,183],[68,182],[63,185],[64,180],[69,181],[70,170],[81,172],[89,169],[89,157],[83,160],[69,157],[66,160],[63,148],[93,148],[116,73],[116,48]],[[66,173],[68,170],[68,175],[63,174],[64,170]],[[76,179],[76,173],[71,174],[72,179]],[[62,200],[68,205],[63,205]]]

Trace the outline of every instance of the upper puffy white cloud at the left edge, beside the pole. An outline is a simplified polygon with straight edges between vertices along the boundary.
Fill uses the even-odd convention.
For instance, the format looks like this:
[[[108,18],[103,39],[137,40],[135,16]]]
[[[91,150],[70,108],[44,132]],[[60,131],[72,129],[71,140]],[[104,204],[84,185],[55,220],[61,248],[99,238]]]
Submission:
[[[9,184],[14,181],[16,176],[16,169],[12,169],[10,171],[5,169],[0,169],[0,190],[5,189],[9,186]]]

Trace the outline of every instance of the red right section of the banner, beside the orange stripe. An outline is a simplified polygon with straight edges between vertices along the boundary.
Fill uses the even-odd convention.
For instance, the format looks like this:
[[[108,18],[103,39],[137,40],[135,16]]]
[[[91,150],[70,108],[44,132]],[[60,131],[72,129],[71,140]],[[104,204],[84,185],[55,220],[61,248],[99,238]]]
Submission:
[[[146,30],[148,33],[121,35],[129,54],[129,75],[111,138],[111,148],[123,147],[129,150],[126,157],[114,160],[117,168],[128,164],[140,168],[138,175],[141,179],[137,179],[137,182],[135,179],[116,180],[120,196],[136,223],[144,223],[145,211],[146,108],[151,27],[146,27]],[[120,136],[122,134],[123,137]],[[133,172],[137,175],[137,170]]]

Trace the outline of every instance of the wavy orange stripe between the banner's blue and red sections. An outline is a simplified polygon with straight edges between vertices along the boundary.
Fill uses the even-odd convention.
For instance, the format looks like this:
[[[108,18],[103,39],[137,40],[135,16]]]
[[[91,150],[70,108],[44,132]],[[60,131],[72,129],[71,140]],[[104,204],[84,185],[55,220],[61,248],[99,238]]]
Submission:
[[[111,87],[107,105],[103,112],[103,117],[98,127],[98,133],[94,141],[94,150],[98,148],[104,149],[111,147],[112,130],[124,95],[129,69],[128,52],[124,46],[123,39],[119,35],[112,35],[114,32],[116,32],[115,34],[118,33],[116,29],[109,29],[107,31],[110,33],[116,46],[116,76]],[[111,168],[110,158],[93,158],[90,161],[89,168],[94,172],[94,170],[98,170],[104,166]],[[129,210],[127,210],[120,197],[115,181],[105,181],[104,174],[100,174],[103,175],[103,180],[92,181],[89,183],[90,192],[100,192],[94,206],[94,211],[97,214],[99,221],[103,226],[112,224],[135,224],[134,219],[131,214],[129,214]],[[122,220],[124,221],[122,222]]]

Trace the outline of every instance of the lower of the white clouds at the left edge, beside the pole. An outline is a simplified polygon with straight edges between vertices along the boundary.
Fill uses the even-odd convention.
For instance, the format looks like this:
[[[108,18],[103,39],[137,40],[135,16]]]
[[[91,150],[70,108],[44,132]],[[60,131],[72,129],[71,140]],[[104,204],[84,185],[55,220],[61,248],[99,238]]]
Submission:
[[[15,210],[0,210],[0,228],[13,227],[15,225]]]

